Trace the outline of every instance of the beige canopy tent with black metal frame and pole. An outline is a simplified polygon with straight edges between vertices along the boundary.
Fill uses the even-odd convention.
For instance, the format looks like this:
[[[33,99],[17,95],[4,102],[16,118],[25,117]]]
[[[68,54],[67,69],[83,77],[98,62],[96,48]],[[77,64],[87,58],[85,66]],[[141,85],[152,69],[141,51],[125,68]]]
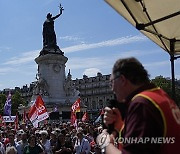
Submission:
[[[175,98],[174,60],[180,58],[180,0],[105,1],[170,55]]]

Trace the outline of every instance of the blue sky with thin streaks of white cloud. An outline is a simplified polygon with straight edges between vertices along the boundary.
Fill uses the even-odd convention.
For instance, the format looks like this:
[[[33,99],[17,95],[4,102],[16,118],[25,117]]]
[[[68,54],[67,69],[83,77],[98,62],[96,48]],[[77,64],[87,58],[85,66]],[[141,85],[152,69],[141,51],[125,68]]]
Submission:
[[[143,36],[103,0],[0,0],[0,90],[35,80],[34,59],[42,49],[42,25],[48,12],[55,21],[60,49],[68,57],[73,79],[110,74],[118,58],[134,56],[151,78],[171,77],[169,55]],[[180,78],[180,61],[175,77]]]

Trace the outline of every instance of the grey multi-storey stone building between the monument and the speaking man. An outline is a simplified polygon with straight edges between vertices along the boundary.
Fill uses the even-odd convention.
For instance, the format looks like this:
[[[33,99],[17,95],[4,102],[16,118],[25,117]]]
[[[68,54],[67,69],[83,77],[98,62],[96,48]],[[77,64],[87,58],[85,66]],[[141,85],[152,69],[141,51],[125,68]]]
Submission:
[[[107,102],[114,98],[110,88],[109,75],[97,73],[97,76],[83,76],[82,79],[73,80],[80,92],[80,97],[84,105],[87,106],[90,119],[98,116],[101,109],[107,106]]]

